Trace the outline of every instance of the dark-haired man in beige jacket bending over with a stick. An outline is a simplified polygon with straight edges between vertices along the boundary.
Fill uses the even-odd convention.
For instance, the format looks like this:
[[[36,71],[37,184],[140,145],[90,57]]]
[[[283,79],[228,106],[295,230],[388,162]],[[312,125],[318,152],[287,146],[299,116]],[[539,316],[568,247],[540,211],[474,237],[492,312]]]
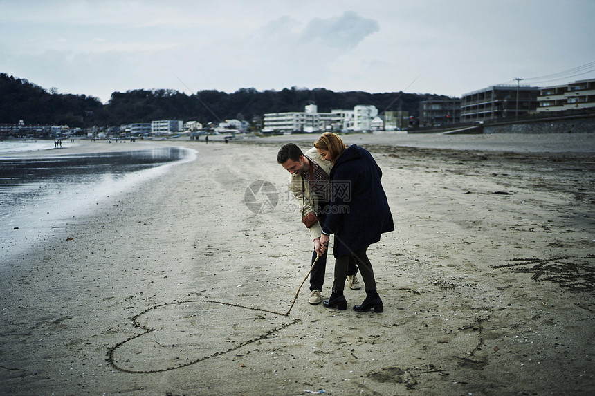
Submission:
[[[277,153],[277,162],[291,173],[289,176],[289,190],[293,193],[297,202],[300,204],[300,214],[302,218],[314,212],[318,216],[318,221],[311,225],[308,230],[310,237],[314,242],[314,251],[312,253],[312,263],[314,263],[317,252],[321,254],[310,273],[310,296],[308,302],[315,305],[320,303],[320,293],[324,283],[324,272],[327,268],[327,251],[320,248],[320,234],[322,232],[321,224],[327,216],[329,202],[331,200],[331,173],[332,165],[328,161],[322,160],[318,151],[313,147],[302,153],[300,147],[293,143],[284,144]],[[349,287],[358,290],[361,285],[356,274],[358,267],[352,259],[349,261],[349,270],[347,279]]]

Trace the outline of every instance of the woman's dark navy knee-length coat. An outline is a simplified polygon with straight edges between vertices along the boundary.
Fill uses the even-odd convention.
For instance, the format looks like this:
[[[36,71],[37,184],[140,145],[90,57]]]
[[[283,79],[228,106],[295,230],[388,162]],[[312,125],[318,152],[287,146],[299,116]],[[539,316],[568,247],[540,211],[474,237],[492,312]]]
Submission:
[[[380,241],[394,231],[382,171],[372,154],[353,144],[336,159],[331,170],[333,196],[324,234],[335,234],[333,254],[345,256]]]

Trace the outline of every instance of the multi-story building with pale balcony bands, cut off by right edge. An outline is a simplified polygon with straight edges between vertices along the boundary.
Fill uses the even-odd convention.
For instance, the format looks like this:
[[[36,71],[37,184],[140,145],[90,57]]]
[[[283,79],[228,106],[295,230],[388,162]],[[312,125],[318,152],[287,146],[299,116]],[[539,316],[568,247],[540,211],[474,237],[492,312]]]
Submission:
[[[538,113],[595,107],[595,79],[540,88]]]

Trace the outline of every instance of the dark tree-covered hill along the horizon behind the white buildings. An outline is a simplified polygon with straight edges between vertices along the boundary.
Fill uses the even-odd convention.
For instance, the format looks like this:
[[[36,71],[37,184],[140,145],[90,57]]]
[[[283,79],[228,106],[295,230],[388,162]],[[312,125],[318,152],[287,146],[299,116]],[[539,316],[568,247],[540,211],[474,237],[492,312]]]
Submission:
[[[216,90],[192,95],[171,89],[138,89],[114,92],[107,104],[95,97],[49,93],[44,88],[0,73],[0,124],[52,124],[77,126],[119,126],[152,120],[196,120],[203,124],[226,119],[253,120],[265,113],[304,111],[316,104],[319,112],[353,109],[373,104],[378,111],[409,111],[417,114],[419,102],[443,95],[419,93],[333,92],[324,88],[284,88],[259,92],[241,88],[235,93]]]

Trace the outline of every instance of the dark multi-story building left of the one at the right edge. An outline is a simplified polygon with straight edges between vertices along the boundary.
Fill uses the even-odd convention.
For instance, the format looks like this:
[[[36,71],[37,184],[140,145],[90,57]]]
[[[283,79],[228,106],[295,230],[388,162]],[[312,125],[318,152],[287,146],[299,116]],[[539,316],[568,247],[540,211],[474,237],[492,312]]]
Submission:
[[[483,122],[518,117],[537,109],[539,88],[495,85],[466,93],[461,98],[461,122]]]

